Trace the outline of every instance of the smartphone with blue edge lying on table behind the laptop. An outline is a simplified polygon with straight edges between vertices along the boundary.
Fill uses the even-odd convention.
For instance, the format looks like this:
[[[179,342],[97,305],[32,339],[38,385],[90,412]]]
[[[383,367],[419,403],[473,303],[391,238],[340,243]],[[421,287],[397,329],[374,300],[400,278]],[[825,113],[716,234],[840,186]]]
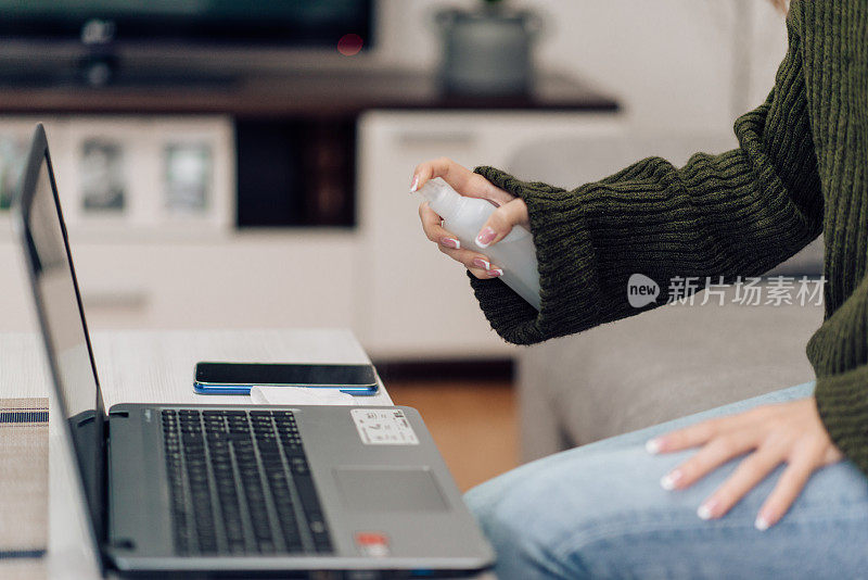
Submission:
[[[197,363],[193,388],[200,394],[250,394],[251,388],[310,387],[367,395],[376,392],[373,365]]]

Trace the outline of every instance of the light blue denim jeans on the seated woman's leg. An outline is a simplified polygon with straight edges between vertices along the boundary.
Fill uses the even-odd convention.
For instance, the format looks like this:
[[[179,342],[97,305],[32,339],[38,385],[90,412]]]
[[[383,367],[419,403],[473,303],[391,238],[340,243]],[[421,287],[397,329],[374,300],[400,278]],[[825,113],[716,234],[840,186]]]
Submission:
[[[472,489],[465,501],[497,552],[498,578],[868,577],[868,479],[852,463],[816,471],[783,519],[758,531],[754,518],[782,467],[703,521],[697,507],[738,459],[664,491],[660,478],[695,451],[644,450],[655,434],[813,391],[808,382],[584,445]]]

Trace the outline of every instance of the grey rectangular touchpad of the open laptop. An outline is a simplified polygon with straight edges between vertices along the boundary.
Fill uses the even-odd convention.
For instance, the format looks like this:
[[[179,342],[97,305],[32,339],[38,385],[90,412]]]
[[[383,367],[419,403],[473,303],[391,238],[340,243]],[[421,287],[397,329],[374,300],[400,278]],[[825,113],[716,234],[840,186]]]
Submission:
[[[334,470],[347,509],[443,512],[448,508],[430,469],[341,467]]]

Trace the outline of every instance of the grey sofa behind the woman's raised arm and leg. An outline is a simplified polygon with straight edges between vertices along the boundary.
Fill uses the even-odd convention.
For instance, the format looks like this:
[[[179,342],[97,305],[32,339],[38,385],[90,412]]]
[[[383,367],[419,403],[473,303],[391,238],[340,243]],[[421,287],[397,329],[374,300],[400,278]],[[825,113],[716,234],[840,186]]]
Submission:
[[[646,147],[656,153],[652,139],[646,141],[622,150]],[[705,141],[703,136],[671,140],[661,154],[684,160]],[[567,161],[588,160],[592,148],[582,140],[540,144],[519,152],[510,168],[525,178],[583,182],[588,167]],[[610,150],[618,151],[615,146]],[[597,149],[595,155],[599,153]],[[769,274],[819,276],[821,244],[817,240]],[[740,305],[732,303],[732,292],[730,288],[723,306],[711,301],[699,305],[700,294],[692,306],[661,306],[522,349],[522,459],[812,380],[805,344],[822,320],[822,306]]]

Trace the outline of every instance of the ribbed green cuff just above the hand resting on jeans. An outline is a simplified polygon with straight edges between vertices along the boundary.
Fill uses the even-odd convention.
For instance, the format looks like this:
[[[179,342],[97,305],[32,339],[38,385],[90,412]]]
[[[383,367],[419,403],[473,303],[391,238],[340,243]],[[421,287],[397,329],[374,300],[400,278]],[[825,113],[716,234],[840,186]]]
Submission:
[[[868,365],[817,378],[817,409],[841,452],[868,474]]]

